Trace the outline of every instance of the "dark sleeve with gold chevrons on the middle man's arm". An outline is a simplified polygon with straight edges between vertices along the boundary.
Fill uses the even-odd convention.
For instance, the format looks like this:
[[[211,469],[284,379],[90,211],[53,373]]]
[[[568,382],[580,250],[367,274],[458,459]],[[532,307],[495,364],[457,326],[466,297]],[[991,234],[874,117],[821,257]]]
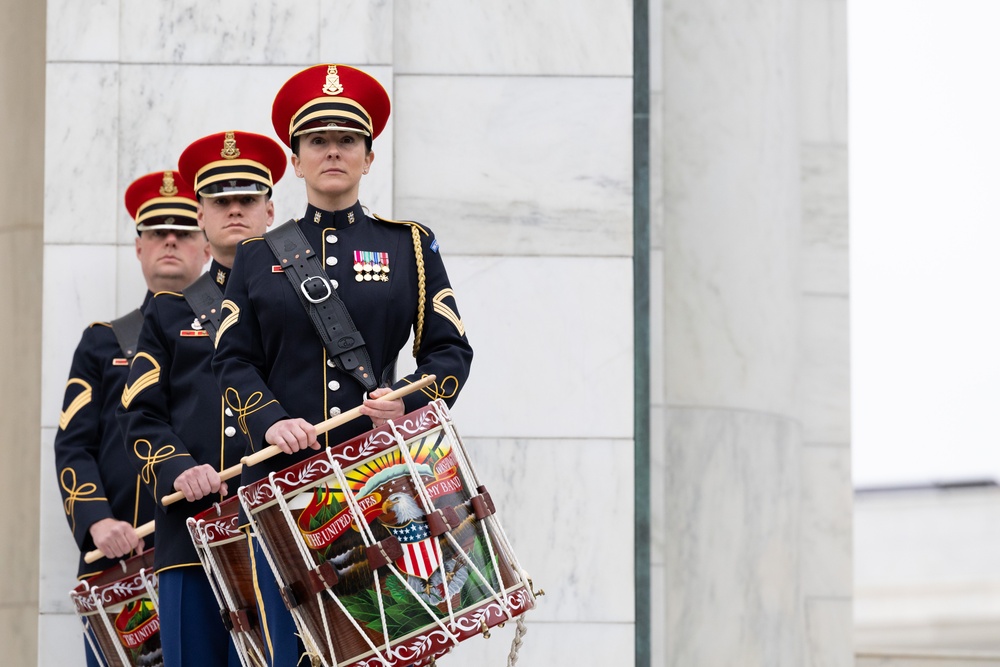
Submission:
[[[157,503],[174,492],[174,480],[181,473],[198,465],[170,423],[175,348],[163,331],[161,303],[154,298],[147,306],[138,352],[116,413],[126,456]]]

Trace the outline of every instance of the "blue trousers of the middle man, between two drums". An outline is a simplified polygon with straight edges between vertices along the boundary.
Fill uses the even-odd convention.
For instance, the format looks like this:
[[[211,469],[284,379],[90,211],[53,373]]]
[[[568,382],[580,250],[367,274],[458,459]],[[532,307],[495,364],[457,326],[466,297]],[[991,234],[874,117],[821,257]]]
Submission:
[[[179,567],[157,576],[164,667],[240,667],[205,571]]]

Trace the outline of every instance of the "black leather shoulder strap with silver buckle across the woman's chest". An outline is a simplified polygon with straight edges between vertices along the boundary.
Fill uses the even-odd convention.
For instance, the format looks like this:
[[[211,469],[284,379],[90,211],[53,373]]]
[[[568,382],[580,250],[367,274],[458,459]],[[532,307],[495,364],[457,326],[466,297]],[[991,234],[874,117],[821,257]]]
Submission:
[[[378,382],[364,338],[298,223],[289,220],[264,238],[337,368],[353,376],[366,390],[375,389]]]

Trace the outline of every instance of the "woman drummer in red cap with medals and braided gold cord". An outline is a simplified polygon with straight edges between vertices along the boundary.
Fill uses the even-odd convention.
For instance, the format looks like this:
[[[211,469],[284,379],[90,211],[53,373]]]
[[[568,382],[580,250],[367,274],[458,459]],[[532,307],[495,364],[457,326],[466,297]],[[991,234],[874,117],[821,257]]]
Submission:
[[[358,200],[388,117],[381,84],[346,65],[305,69],[274,99],[272,123],[309,205],[280,235],[241,245],[226,290],[219,385],[248,453],[277,445],[287,454],[244,468],[244,485],[434,399],[450,406],[468,378],[472,348],[434,234],[369,215]],[[297,250],[282,256],[289,247]],[[396,379],[411,331],[416,370]],[[437,380],[427,389],[379,400],[430,374]],[[367,419],[317,438],[313,424],[358,406]],[[261,555],[255,547],[272,664],[294,665],[302,645]]]

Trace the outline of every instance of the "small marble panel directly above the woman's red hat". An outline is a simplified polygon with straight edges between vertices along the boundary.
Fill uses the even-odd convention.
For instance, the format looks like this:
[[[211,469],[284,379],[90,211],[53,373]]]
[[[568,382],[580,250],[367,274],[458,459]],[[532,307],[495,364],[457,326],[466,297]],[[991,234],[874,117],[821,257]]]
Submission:
[[[338,0],[319,3],[319,61],[364,66],[393,62],[392,0]]]

